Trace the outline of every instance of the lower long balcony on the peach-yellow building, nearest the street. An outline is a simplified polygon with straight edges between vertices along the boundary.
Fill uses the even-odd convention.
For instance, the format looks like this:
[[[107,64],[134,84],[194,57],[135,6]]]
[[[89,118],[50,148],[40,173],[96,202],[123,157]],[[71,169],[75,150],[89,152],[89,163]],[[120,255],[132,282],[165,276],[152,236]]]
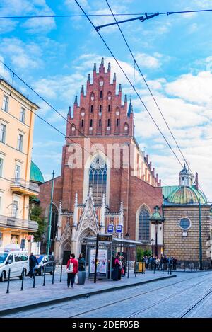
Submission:
[[[24,231],[37,231],[38,224],[33,220],[18,219],[15,217],[6,217],[0,215],[0,227],[21,229]]]

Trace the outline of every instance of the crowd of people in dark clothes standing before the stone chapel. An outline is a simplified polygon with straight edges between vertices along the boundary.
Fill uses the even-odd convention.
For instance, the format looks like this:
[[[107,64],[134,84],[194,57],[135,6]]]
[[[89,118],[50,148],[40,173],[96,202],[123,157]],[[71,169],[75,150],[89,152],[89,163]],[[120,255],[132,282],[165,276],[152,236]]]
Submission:
[[[177,258],[172,256],[144,256],[143,261],[145,262],[145,267],[151,270],[163,269],[163,270],[177,270]]]

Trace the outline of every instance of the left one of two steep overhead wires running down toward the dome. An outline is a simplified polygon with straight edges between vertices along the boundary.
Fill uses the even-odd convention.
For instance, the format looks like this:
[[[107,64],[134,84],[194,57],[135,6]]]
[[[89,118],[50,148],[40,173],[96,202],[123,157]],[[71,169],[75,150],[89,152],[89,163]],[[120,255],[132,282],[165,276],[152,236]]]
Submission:
[[[78,1],[75,0],[76,4],[78,4]],[[87,16],[86,12],[83,10],[83,8],[81,7],[80,4],[78,4],[79,8],[81,8],[81,11],[83,11],[83,13],[86,15],[86,17],[88,18],[88,21],[90,21],[90,18]],[[95,29],[95,25],[93,24],[92,21],[90,21],[90,24],[93,26],[93,28]],[[96,29],[95,29],[96,30]],[[107,47],[107,50],[110,52],[110,54],[112,55],[113,59],[115,60],[115,62],[117,62],[117,65],[119,66],[119,68],[121,69],[122,73],[124,74],[124,76],[126,77],[127,81],[129,81],[129,84],[131,85],[131,87],[134,89],[136,95],[139,97],[139,100],[141,101],[143,107],[146,109],[148,115],[151,117],[151,119],[153,120],[155,126],[158,128],[160,134],[163,136],[163,138],[165,139],[165,142],[167,143],[168,147],[170,147],[172,153],[175,155],[175,158],[177,159],[177,161],[179,161],[179,164],[183,167],[182,162],[179,160],[177,154],[175,154],[175,151],[172,149],[172,147],[170,146],[169,142],[167,141],[165,135],[163,134],[163,132],[160,130],[160,127],[158,127],[158,124],[155,122],[153,116],[151,115],[150,111],[148,110],[146,104],[143,102],[143,100],[141,99],[141,96],[139,95],[138,91],[136,90],[136,88],[134,87],[133,83],[131,82],[131,80],[129,79],[129,77],[127,76],[127,74],[125,73],[124,69],[122,68],[121,64],[119,64],[119,61],[117,60],[117,58],[114,56],[112,50],[110,50],[110,47],[107,45],[107,42],[105,42],[105,39],[102,37],[102,35],[100,35],[100,32],[98,30],[96,30],[96,32],[98,33],[98,35],[100,36],[102,42],[104,42],[105,46]]]

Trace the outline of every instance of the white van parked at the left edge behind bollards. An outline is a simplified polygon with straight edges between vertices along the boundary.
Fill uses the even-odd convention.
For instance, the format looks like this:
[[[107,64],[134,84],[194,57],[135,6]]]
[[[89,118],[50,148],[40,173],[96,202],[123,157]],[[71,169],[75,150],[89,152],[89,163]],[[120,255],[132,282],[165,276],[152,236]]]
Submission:
[[[0,282],[8,277],[8,270],[11,269],[11,277],[19,277],[29,273],[29,257],[27,251],[0,251]]]

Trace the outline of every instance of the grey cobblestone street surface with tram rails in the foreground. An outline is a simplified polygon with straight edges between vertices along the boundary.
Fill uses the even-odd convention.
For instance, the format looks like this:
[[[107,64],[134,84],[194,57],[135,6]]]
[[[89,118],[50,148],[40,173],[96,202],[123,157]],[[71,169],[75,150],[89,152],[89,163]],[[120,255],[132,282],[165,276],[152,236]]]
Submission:
[[[170,279],[73,299],[6,317],[212,317],[212,273],[176,274],[177,277]],[[66,292],[76,292],[76,288],[67,289]]]

